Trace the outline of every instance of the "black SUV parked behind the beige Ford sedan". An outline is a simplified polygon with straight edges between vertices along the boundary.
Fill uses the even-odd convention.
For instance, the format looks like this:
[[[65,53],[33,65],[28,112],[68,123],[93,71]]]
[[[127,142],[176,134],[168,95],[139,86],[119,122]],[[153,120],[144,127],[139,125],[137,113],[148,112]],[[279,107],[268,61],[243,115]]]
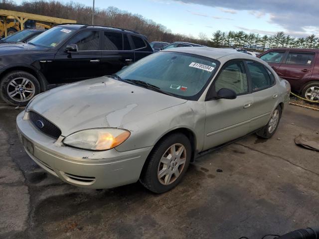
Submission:
[[[42,91],[111,75],[151,53],[146,36],[135,31],[59,25],[27,43],[0,45],[0,97],[24,106]]]

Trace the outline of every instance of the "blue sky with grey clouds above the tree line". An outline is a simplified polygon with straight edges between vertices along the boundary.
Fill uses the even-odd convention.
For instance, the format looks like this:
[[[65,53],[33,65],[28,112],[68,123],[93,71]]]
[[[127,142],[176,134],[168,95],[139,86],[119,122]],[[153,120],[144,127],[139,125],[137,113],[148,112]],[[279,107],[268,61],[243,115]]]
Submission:
[[[15,0],[20,3],[22,0]],[[61,0],[68,2],[69,0]],[[73,0],[86,5],[93,0]],[[171,29],[197,37],[222,31],[292,36],[319,35],[319,0],[95,0],[99,8],[115,6],[138,13]]]

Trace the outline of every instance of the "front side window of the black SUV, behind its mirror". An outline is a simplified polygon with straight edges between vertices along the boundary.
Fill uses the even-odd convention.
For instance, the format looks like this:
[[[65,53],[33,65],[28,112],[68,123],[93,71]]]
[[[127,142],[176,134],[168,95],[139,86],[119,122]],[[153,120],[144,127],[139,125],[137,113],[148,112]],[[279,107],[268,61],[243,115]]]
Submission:
[[[82,31],[73,37],[68,44],[76,44],[78,51],[95,51],[99,50],[99,42],[99,31]]]

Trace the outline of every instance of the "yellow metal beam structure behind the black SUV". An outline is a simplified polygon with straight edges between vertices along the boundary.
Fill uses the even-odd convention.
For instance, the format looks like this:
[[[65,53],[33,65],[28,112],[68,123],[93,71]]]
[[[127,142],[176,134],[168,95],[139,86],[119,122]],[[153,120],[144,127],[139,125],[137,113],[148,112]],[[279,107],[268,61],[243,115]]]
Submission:
[[[49,29],[55,24],[76,23],[75,20],[70,19],[0,9],[0,36],[23,30],[27,20],[34,20],[36,29]]]

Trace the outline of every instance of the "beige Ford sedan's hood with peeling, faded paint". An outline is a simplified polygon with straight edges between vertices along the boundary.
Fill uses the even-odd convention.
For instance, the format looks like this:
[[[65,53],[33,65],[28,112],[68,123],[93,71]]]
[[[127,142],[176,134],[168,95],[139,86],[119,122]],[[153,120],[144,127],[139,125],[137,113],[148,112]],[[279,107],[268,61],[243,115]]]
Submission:
[[[50,120],[67,136],[86,128],[123,127],[125,123],[185,102],[104,76],[42,93],[27,110]]]

